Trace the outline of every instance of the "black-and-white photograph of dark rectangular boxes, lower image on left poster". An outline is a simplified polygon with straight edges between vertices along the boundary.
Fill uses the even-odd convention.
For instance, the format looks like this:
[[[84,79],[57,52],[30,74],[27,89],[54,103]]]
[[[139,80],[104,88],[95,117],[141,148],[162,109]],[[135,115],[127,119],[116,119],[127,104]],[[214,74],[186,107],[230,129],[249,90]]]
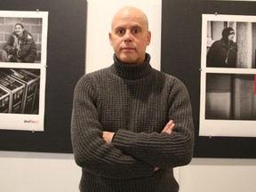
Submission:
[[[39,111],[40,69],[0,68],[0,113]]]

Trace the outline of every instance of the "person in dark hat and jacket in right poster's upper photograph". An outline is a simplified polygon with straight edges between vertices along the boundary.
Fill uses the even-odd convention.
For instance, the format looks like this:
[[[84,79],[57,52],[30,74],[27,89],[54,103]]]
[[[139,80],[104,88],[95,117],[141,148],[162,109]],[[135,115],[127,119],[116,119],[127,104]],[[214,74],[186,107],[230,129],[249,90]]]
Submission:
[[[207,52],[206,66],[212,68],[236,68],[236,44],[233,28],[224,28],[222,38],[215,41]]]

